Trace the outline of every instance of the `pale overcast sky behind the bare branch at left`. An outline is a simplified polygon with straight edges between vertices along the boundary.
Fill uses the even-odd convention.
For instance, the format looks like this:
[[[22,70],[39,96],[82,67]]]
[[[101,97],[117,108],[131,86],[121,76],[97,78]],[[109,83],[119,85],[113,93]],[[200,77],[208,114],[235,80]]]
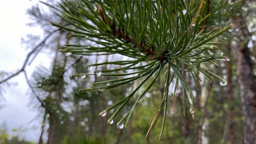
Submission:
[[[22,37],[25,38],[27,34],[36,34],[43,38],[40,27],[26,26],[30,22],[28,15],[25,14],[26,9],[36,3],[38,0],[2,0],[0,2],[0,71],[12,74],[21,68],[26,55],[31,51],[22,48]],[[50,63],[50,59],[46,55],[38,55],[33,64],[26,68],[28,75],[41,60],[44,60],[43,63],[46,65]],[[0,105],[3,106],[0,110],[0,125],[6,122],[9,133],[12,132],[12,129],[22,127],[26,132],[22,133],[21,138],[38,142],[40,125],[33,127],[34,125],[28,124],[36,117],[37,112],[27,106],[29,103],[29,96],[26,94],[28,85],[24,74],[17,75],[10,82],[17,85],[2,85],[5,90],[6,102],[0,101]]]

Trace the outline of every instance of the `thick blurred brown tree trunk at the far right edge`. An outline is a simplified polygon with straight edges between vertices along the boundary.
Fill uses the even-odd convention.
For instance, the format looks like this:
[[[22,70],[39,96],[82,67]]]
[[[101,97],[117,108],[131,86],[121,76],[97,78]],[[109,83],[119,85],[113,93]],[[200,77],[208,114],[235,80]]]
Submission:
[[[253,64],[249,55],[248,31],[242,15],[235,17],[234,27],[239,29],[239,43],[234,42],[235,58],[237,62],[238,82],[242,101],[242,114],[244,122],[244,144],[256,144],[256,94]],[[243,27],[242,27],[243,26]],[[238,28],[241,27],[241,28]]]

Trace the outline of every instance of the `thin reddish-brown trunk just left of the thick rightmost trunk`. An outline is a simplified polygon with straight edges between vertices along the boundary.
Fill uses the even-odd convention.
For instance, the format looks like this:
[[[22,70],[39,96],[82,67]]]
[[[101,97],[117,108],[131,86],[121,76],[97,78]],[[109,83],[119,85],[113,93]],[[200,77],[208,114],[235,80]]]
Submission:
[[[231,44],[230,40],[227,44],[227,57],[231,58]],[[230,144],[235,143],[235,129],[234,129],[234,112],[233,112],[233,85],[232,85],[232,63],[231,61],[226,61],[226,70],[227,70],[227,87],[228,87],[228,126],[229,126],[229,142]]]

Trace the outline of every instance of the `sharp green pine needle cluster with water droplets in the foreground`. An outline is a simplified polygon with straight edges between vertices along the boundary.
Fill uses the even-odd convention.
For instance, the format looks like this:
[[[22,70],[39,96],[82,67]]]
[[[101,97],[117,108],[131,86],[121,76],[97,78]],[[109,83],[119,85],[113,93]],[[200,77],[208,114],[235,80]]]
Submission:
[[[214,46],[216,42],[211,42],[211,40],[229,29],[230,25],[217,32],[214,32],[217,29],[214,28],[205,33],[203,22],[210,16],[203,13],[205,5],[204,0],[65,0],[59,4],[61,9],[55,9],[61,13],[56,13],[56,15],[66,21],[69,26],[51,24],[70,31],[72,33],[70,36],[83,38],[98,45],[66,45],[66,48],[62,50],[65,53],[86,56],[120,54],[131,58],[131,60],[86,65],[88,70],[99,65],[119,65],[122,67],[96,71],[97,76],[105,75],[118,78],[94,83],[96,87],[80,89],[81,91],[92,89],[102,91],[138,79],[142,80],[130,95],[99,114],[105,115],[108,111],[119,106],[108,123],[112,123],[112,120],[138,89],[149,82],[149,79],[152,79],[149,86],[137,98],[133,107],[117,123],[119,128],[124,127],[123,122],[125,120],[125,126],[128,125],[138,101],[147,93],[157,77],[162,73],[164,74],[167,80],[165,93],[152,122],[153,125],[163,105],[164,119],[161,137],[166,120],[167,101],[170,98],[168,91],[171,82],[174,80],[175,87],[180,83],[183,93],[183,114],[185,115],[185,95],[187,95],[190,102],[190,113],[194,117],[193,93],[183,79],[184,72],[190,73],[194,81],[199,79],[198,72],[212,80],[210,75],[214,74],[208,70],[204,63],[216,64],[214,60],[225,60],[222,53],[211,52],[211,49],[218,49]],[[128,70],[134,70],[134,72],[128,72]],[[123,71],[123,73],[115,73],[118,71]],[[77,75],[83,77],[93,74]],[[129,77],[119,79],[120,76]],[[214,76],[218,77],[217,75]],[[98,84],[105,85],[97,86]],[[175,98],[176,91],[175,88],[172,99]]]

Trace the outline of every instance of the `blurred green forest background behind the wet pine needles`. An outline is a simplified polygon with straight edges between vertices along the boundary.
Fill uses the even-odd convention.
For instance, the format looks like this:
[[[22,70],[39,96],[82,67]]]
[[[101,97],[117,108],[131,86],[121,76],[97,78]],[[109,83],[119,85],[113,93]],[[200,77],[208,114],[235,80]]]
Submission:
[[[223,1],[223,3],[225,2],[229,5],[232,4],[230,1]],[[48,3],[53,5],[56,4],[55,1],[48,1]],[[214,5],[214,3],[211,3],[211,5]],[[224,7],[223,5],[222,7]],[[233,17],[235,17],[234,15],[242,14],[243,19],[239,20],[239,22],[243,21],[244,24],[239,27],[232,27],[227,31],[227,33],[219,36],[218,39],[216,39],[216,41],[221,42],[221,45],[218,45],[218,48],[220,48],[223,55],[227,56],[230,61],[219,62],[218,67],[207,65],[209,69],[221,77],[224,77],[225,79],[228,79],[229,77],[228,83],[226,84],[226,82],[219,79],[214,79],[214,83],[208,82],[206,79],[203,84],[198,81],[199,91],[193,91],[195,95],[195,112],[197,113],[194,120],[192,119],[191,115],[186,115],[186,117],[183,117],[182,101],[179,99],[179,96],[182,97],[182,95],[181,91],[177,91],[178,97],[176,108],[173,116],[171,116],[171,110],[168,112],[166,128],[160,143],[198,143],[200,142],[200,138],[206,143],[244,142],[241,111],[242,104],[239,91],[240,87],[236,71],[237,67],[235,63],[235,56],[230,48],[234,47],[234,43],[232,41],[237,41],[239,39],[237,38],[238,34],[236,32],[242,31],[244,30],[243,28],[246,27],[246,33],[248,34],[249,32],[249,34],[246,36],[246,39],[248,39],[247,46],[250,50],[249,56],[252,64],[254,65],[254,48],[256,46],[256,36],[254,35],[256,31],[256,18],[254,10],[256,9],[256,4],[255,2],[249,1],[241,2],[240,5],[235,8],[236,10],[232,11]],[[212,19],[216,19],[220,16],[223,16],[222,19],[226,19],[225,22],[223,21],[223,24],[213,21],[213,27],[223,28],[223,26],[227,25],[226,22],[232,20],[232,16],[230,15],[224,17],[225,12],[230,10],[227,7],[226,9],[219,10],[219,13],[215,13],[217,12],[216,8],[210,10],[213,10],[214,12],[214,15],[211,15]],[[78,92],[77,89],[81,89],[85,86],[91,86],[90,83],[99,82],[101,80],[108,79],[108,77],[97,77],[96,74],[86,76],[85,78],[80,78],[78,76],[72,76],[73,74],[80,74],[83,72],[93,73],[92,71],[95,70],[96,67],[93,67],[92,71],[88,71],[84,66],[95,63],[96,61],[111,61],[113,58],[122,59],[122,57],[118,55],[109,57],[77,57],[70,55],[70,53],[63,54],[61,52],[57,52],[57,50],[61,49],[65,43],[76,43],[77,41],[81,42],[81,40],[73,38],[71,39],[68,37],[69,33],[50,26],[48,21],[58,22],[61,20],[59,17],[54,16],[52,11],[49,11],[49,14],[47,14],[48,10],[46,11],[47,12],[43,12],[41,6],[38,5],[30,8],[28,14],[33,17],[33,20],[35,21],[35,23],[30,24],[30,26],[41,26],[44,31],[44,35],[41,36],[42,38],[30,35],[22,40],[22,44],[25,49],[33,50],[34,48],[38,48],[33,53],[33,57],[31,57],[29,60],[33,60],[34,57],[37,57],[37,55],[40,55],[40,53],[47,53],[47,55],[50,55],[50,58],[53,58],[52,61],[48,62],[50,65],[46,64],[49,67],[45,67],[43,64],[47,63],[47,61],[43,61],[43,63],[40,63],[39,65],[37,63],[35,71],[31,74],[31,76],[28,77],[28,79],[23,80],[23,82],[28,82],[26,80],[29,80],[29,84],[31,86],[29,91],[29,96],[31,98],[29,104],[30,109],[35,110],[31,113],[36,113],[39,115],[36,116],[36,120],[34,120],[33,123],[37,122],[36,125],[40,125],[42,124],[43,120],[43,123],[45,123],[40,141],[44,140],[48,143],[70,143],[71,141],[73,143],[142,143],[144,141],[145,134],[150,127],[152,119],[157,112],[158,103],[161,102],[161,97],[156,99],[156,96],[163,95],[162,84],[164,82],[164,77],[157,79],[153,88],[150,89],[150,93],[147,93],[145,98],[140,100],[128,128],[118,129],[115,125],[106,124],[107,119],[110,116],[106,115],[105,117],[99,117],[98,114],[100,111],[118,102],[119,97],[116,97],[117,94],[120,96],[126,96],[127,93],[130,93],[131,90],[134,89],[133,87],[138,85],[139,81],[131,83],[127,91],[125,90],[126,87],[119,87],[118,89],[111,89],[104,92]],[[49,34],[50,38],[47,37]],[[45,38],[48,39],[43,41]],[[43,45],[41,44],[42,41],[44,42]],[[38,47],[36,47],[37,45]],[[215,52],[221,53],[220,51]],[[22,58],[19,58],[19,60],[22,62],[21,59]],[[35,60],[36,59],[37,58],[35,58]],[[36,61],[33,63],[36,63]],[[3,61],[1,62],[1,65],[3,65]],[[97,67],[97,69],[109,68],[111,67]],[[231,75],[229,70],[231,70]],[[3,79],[4,77],[8,77],[7,75],[11,73],[7,73],[7,71],[9,70],[5,70],[5,72],[1,73]],[[28,73],[28,75],[30,74]],[[191,83],[191,79],[192,77],[188,76],[188,83]],[[15,79],[13,79],[13,81],[17,82]],[[8,83],[5,83],[4,87],[7,85]],[[13,87],[14,85],[15,84],[10,83],[10,87]],[[52,85],[54,85],[54,87],[51,87],[51,90],[49,91],[47,87]],[[41,89],[38,89],[40,86],[45,86],[42,89],[44,89],[44,92],[46,93],[43,93]],[[232,88],[231,91],[229,90],[230,86]],[[195,88],[192,83],[191,87]],[[1,87],[1,92],[3,92],[3,89],[5,88]],[[52,91],[52,89],[54,89],[54,91]],[[209,93],[206,93],[205,90],[209,91]],[[230,93],[232,94],[231,98],[228,97],[230,96]],[[51,121],[53,119],[51,119],[49,113],[52,112],[47,111],[48,115],[45,114],[44,108],[40,107],[41,101],[37,101],[38,99],[36,99],[36,96],[45,94],[47,97],[44,97],[43,99],[49,99],[47,101],[47,105],[50,106],[50,109],[48,110],[55,113],[55,117],[57,117],[56,121]],[[172,95],[172,93],[170,93],[170,95]],[[3,96],[1,98],[2,101],[5,101]],[[207,105],[205,107],[205,117],[202,117],[200,111],[202,111],[201,107],[204,105],[204,99],[206,99]],[[135,101],[135,99],[133,101]],[[24,106],[26,103],[21,105]],[[172,106],[173,101],[170,101],[169,107],[172,108]],[[232,110],[233,116],[230,116],[230,110]],[[3,111],[4,107],[2,108],[1,112]],[[110,113],[113,113],[113,111],[110,111]],[[125,111],[123,111],[123,113],[125,113]],[[31,115],[28,115],[27,118],[28,117],[31,117]],[[232,117],[231,122],[230,117]],[[121,116],[119,116],[119,119],[121,119]],[[200,123],[202,119],[203,123]],[[145,143],[156,143],[158,141],[158,136],[161,130],[160,121],[161,118],[159,118],[159,122],[156,122],[156,125],[152,129],[151,134]],[[49,127],[51,127],[49,123],[55,123],[51,128],[56,132],[55,136],[52,136],[52,133],[49,131]],[[69,127],[67,127],[67,125]],[[16,132],[16,130],[18,129],[14,129],[14,132]],[[23,130],[20,131],[22,132]]]

